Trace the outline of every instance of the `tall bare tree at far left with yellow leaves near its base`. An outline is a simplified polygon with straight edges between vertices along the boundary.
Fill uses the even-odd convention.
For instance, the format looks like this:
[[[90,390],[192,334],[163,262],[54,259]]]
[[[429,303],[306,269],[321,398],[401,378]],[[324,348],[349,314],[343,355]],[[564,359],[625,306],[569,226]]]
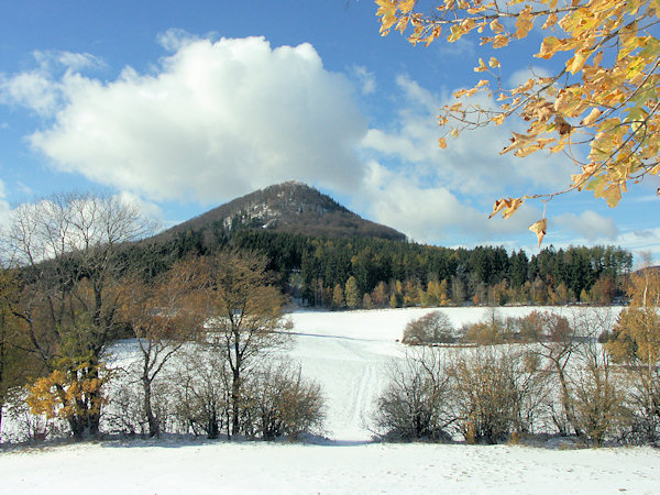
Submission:
[[[55,195],[13,211],[8,241],[21,267],[30,350],[48,372],[66,369],[97,380],[102,354],[118,334],[121,244],[150,231],[136,207],[97,194]],[[74,380],[75,381],[75,380]],[[101,394],[101,391],[91,395]],[[78,405],[99,404],[90,397]],[[76,438],[98,432],[100,411],[69,418]]]

